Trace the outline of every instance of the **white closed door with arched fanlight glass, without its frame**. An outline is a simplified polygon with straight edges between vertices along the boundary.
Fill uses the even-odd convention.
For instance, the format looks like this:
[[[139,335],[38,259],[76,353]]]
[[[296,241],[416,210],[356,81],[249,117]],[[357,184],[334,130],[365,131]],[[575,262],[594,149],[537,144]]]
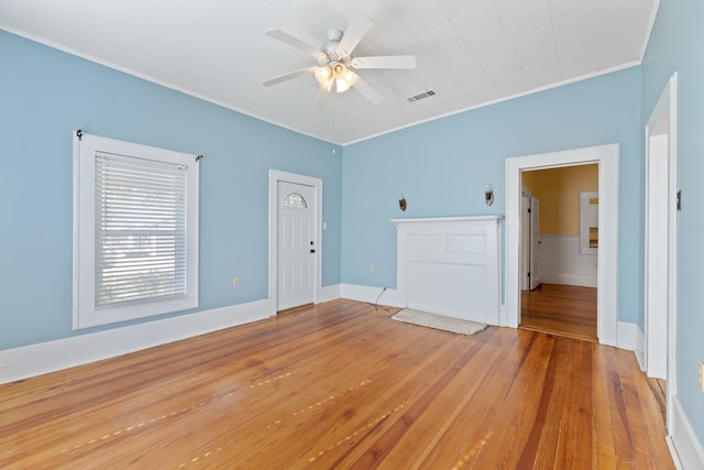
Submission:
[[[315,302],[316,190],[278,182],[277,309]]]

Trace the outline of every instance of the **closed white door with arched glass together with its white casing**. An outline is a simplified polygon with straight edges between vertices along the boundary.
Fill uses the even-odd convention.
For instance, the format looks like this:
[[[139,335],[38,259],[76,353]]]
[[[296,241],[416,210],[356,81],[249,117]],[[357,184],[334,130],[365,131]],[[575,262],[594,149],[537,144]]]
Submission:
[[[286,184],[295,186],[287,186]],[[268,188],[268,297],[271,300],[270,315],[274,316],[278,310],[294,307],[296,304],[302,305],[311,302],[318,304],[320,302],[320,292],[322,289],[322,181],[311,176],[270,170]],[[305,217],[301,217],[301,214],[293,216],[290,211],[287,214],[287,211],[282,211],[280,209],[283,199],[287,194],[290,194],[290,190],[288,190],[290,188],[299,189],[294,190],[294,193],[301,194],[301,196],[302,193],[307,195],[310,219],[306,223],[304,223],[302,219]],[[282,218],[285,219],[284,222],[282,222]],[[297,228],[294,230],[295,227]],[[289,241],[286,247],[290,245],[290,250],[289,248],[282,250],[279,247],[279,233],[288,237]],[[307,240],[304,240],[304,238]],[[314,242],[312,245],[310,245],[311,241]],[[296,250],[293,249],[295,244],[298,244]],[[301,247],[302,244],[305,247]],[[307,250],[305,253],[304,248]],[[286,252],[287,250],[289,251]],[[315,250],[315,253],[311,253],[310,250]],[[282,271],[279,251],[284,252],[285,258],[290,259],[290,264],[286,266],[287,270],[290,270],[288,273],[279,273]],[[294,261],[294,259],[297,259],[297,261]],[[305,267],[307,273],[304,272],[301,274],[301,267]],[[282,284],[279,280],[283,280],[284,283],[290,282],[290,288],[288,288],[288,285],[279,286]],[[301,282],[308,283],[309,286],[301,288],[304,286]],[[280,287],[284,288],[284,295],[282,295]],[[292,295],[288,295],[289,293]]]

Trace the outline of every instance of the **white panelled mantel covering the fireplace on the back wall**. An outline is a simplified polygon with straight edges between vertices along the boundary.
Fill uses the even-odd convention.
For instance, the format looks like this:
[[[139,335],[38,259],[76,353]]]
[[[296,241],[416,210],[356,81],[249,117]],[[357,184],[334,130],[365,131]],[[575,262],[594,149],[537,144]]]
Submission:
[[[404,307],[499,324],[501,216],[394,219]]]

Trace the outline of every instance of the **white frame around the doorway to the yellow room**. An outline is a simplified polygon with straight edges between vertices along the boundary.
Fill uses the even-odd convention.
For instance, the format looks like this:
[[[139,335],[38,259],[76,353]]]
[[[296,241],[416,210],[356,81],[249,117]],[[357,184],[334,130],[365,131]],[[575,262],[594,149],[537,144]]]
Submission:
[[[524,170],[598,163],[600,247],[596,285],[597,338],[602,345],[618,341],[618,206],[620,144],[506,159],[506,311],[502,324],[517,328],[520,319],[520,198]],[[603,199],[603,201],[602,201]]]

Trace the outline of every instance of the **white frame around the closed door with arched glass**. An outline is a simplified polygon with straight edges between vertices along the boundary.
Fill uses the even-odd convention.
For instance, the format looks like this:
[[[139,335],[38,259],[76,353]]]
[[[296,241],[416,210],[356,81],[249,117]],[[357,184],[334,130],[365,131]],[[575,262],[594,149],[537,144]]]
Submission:
[[[314,303],[320,303],[322,291],[322,179],[296,173],[268,171],[268,300],[270,316],[276,316],[278,304],[278,183],[286,182],[312,186],[316,212],[314,233],[316,234],[316,256],[314,261]]]

